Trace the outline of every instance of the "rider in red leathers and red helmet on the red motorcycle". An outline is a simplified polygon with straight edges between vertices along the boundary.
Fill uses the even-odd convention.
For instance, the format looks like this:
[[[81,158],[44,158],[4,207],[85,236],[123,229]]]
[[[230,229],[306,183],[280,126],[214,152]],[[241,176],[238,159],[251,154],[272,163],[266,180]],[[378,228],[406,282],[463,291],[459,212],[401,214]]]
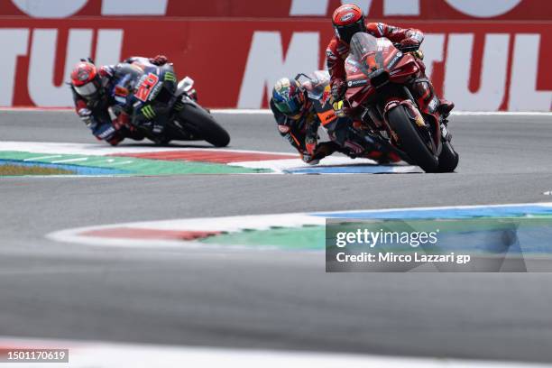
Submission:
[[[349,54],[349,43],[354,33],[367,32],[374,37],[385,37],[391,42],[398,44],[401,51],[418,51],[421,42],[424,40],[424,33],[414,29],[403,29],[385,23],[366,23],[363,11],[357,5],[346,4],[339,6],[332,16],[332,23],[336,35],[327,46],[327,69],[331,76],[332,98],[338,102],[343,100],[346,92],[345,84],[345,59]],[[414,52],[419,59],[421,52]],[[419,63],[423,65],[422,61]],[[424,68],[425,69],[425,68]],[[410,87],[415,98],[434,97],[434,88],[431,81],[426,77],[424,70],[420,70],[419,78],[411,82]],[[437,110],[448,115],[455,107],[455,104],[439,99]],[[342,109],[343,104],[337,104],[336,109]],[[343,112],[347,114],[346,107]]]

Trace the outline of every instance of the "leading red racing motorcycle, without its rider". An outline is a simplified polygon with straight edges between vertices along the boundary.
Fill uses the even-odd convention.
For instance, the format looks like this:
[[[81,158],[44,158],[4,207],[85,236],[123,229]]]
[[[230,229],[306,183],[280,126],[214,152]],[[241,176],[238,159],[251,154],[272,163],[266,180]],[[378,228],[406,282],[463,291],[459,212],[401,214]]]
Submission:
[[[426,172],[452,172],[459,156],[437,97],[428,93],[416,99],[409,89],[409,81],[424,69],[412,52],[400,51],[386,38],[356,33],[345,60],[345,104],[403,160]]]

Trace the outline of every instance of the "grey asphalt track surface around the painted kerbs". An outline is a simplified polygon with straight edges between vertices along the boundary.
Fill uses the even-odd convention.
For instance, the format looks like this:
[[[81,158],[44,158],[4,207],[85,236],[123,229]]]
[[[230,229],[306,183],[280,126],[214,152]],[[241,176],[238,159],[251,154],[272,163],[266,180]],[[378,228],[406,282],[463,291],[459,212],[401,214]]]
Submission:
[[[290,152],[270,115],[218,118],[231,148]],[[552,363],[552,274],[327,274],[316,253],[44,238],[130,221],[549,200],[550,117],[456,116],[450,128],[452,174],[0,179],[0,335]],[[95,142],[70,112],[0,112],[0,136]]]

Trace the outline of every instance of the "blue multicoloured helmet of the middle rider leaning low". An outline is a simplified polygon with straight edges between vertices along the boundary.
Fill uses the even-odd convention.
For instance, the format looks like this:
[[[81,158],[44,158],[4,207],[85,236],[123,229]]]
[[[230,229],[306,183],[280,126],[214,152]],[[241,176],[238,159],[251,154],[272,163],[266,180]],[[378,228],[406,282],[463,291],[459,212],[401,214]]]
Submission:
[[[281,78],[272,89],[272,101],[276,108],[291,119],[299,119],[308,109],[305,88],[295,79]]]

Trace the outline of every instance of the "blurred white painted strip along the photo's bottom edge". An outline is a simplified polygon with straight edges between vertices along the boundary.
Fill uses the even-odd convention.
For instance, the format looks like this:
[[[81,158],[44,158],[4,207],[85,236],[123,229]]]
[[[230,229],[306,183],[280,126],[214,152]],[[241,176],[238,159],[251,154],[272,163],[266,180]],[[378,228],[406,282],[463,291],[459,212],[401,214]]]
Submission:
[[[508,363],[448,358],[394,357],[374,354],[316,353],[300,351],[232,349],[175,345],[131,345],[107,342],[38,340],[0,337],[0,346],[14,349],[69,349],[67,363],[27,364],[70,368],[544,368],[549,364]],[[3,363],[2,367],[18,368],[21,363]]]

